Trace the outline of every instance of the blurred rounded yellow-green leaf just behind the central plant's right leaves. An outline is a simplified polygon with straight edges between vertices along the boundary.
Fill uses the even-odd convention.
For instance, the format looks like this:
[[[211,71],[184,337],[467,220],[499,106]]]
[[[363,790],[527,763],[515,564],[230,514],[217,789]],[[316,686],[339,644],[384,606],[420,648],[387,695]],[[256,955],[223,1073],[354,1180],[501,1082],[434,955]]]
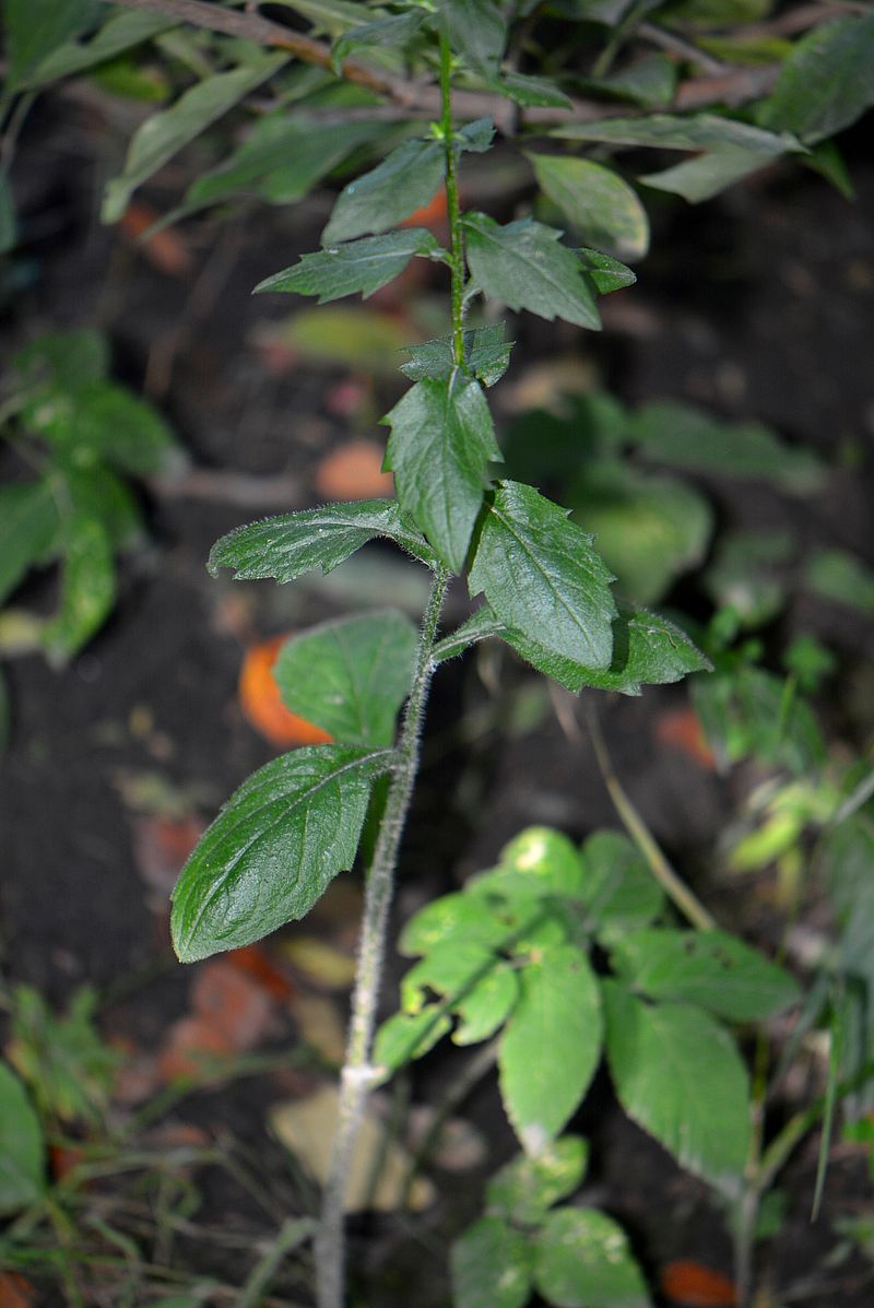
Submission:
[[[691,485],[612,460],[585,468],[572,502],[618,585],[641,604],[701,561],[713,530],[713,510]]]

